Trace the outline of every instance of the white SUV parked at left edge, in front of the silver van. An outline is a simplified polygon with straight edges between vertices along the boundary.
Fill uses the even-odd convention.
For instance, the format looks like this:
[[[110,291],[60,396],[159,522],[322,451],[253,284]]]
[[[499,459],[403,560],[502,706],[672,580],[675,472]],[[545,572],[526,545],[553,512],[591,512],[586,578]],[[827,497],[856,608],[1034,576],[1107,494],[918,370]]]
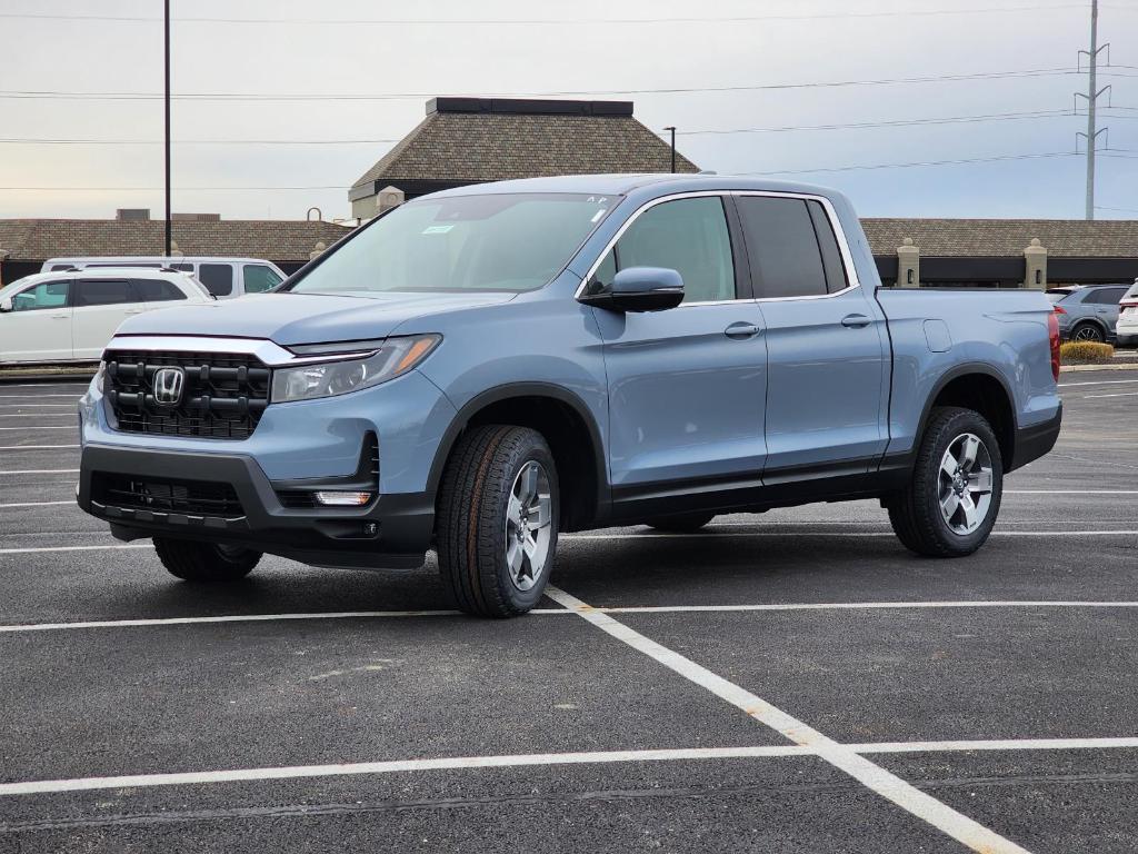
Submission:
[[[0,364],[93,362],[127,318],[213,302],[191,276],[173,270],[27,276],[0,289]]]

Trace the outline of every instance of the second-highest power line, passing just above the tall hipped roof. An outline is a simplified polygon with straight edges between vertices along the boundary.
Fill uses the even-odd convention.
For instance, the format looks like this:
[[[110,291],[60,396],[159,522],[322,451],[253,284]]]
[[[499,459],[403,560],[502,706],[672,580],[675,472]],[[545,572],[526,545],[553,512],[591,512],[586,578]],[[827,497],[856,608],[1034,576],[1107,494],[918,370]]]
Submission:
[[[1077,68],[1029,68],[1025,71],[978,72],[971,74],[937,74],[922,77],[879,77],[867,80],[831,80],[811,83],[767,83],[759,85],[726,87],[674,87],[661,89],[596,89],[564,90],[555,92],[501,92],[500,98],[545,98],[561,96],[597,96],[597,95],[681,95],[703,92],[760,92],[795,89],[832,89],[840,87],[861,85],[902,85],[908,83],[942,83],[970,80],[1004,80],[1019,77],[1044,77],[1053,75],[1079,74]],[[339,95],[339,93],[290,93],[265,95],[255,92],[182,92],[173,96],[174,100],[208,100],[208,101],[360,101],[360,100],[418,100],[434,98],[437,92],[390,92],[386,95]],[[7,90],[0,91],[0,98],[59,98],[65,100],[156,100],[163,96],[157,92],[75,92],[64,90]],[[457,97],[485,98],[485,95]]]

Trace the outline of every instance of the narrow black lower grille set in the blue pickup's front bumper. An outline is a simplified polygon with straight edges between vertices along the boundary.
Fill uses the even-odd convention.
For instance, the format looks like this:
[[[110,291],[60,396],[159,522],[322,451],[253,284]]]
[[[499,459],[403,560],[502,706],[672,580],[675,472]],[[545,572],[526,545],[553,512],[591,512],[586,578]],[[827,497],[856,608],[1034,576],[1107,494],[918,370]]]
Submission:
[[[97,471],[91,479],[91,499],[122,510],[224,519],[245,515],[232,485],[208,481],[171,481]]]

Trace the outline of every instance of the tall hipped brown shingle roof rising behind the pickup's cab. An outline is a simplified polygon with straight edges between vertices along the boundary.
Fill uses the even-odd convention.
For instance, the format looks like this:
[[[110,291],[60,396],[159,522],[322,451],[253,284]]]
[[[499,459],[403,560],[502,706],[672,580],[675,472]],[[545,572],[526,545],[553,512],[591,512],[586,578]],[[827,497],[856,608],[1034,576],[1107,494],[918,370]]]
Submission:
[[[436,98],[427,108],[419,126],[353,184],[353,198],[410,181],[476,183],[671,167],[670,146],[633,118],[627,101]],[[676,170],[699,171],[678,154]]]

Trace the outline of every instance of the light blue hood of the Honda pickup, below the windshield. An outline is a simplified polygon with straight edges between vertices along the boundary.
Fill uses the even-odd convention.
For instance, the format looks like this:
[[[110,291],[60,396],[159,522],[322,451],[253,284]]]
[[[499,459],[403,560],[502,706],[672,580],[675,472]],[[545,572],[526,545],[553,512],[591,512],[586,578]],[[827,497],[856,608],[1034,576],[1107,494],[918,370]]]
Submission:
[[[282,346],[384,338],[426,314],[506,303],[516,294],[256,294],[129,319],[119,335],[267,338]]]

